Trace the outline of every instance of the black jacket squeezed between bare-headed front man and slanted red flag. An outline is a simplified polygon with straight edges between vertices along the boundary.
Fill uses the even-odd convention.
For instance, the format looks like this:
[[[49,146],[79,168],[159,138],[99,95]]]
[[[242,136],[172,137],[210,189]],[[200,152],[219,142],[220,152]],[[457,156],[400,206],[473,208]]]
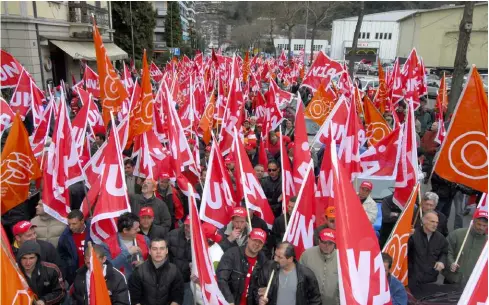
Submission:
[[[185,238],[184,227],[180,227],[167,234],[168,258],[171,263],[178,267],[185,283],[190,281],[190,267],[192,262],[192,250],[190,248],[190,239]]]

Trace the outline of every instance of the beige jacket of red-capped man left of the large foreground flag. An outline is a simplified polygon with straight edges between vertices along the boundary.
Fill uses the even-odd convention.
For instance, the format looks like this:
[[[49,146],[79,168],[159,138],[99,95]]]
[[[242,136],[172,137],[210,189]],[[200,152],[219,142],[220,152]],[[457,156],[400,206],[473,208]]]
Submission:
[[[319,246],[307,249],[302,253],[300,263],[314,272],[321,292],[323,304],[340,304],[338,286],[338,259],[336,250],[323,254]]]

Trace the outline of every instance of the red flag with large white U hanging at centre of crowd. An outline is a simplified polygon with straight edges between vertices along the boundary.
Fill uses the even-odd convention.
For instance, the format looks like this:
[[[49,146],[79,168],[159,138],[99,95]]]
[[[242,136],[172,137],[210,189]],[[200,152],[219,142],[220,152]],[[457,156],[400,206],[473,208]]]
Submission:
[[[231,194],[231,179],[216,141],[212,143],[208,164],[200,205],[200,218],[222,228],[229,223],[231,211],[236,203]]]

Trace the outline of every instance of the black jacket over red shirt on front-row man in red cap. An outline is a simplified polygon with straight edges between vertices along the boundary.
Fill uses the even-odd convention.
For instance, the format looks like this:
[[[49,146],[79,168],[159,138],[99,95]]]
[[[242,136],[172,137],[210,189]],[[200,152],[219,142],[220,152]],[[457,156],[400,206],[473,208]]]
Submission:
[[[241,295],[244,293],[245,278],[248,273],[248,260],[245,255],[245,246],[232,247],[224,252],[221,261],[217,266],[216,277],[217,284],[224,298],[229,303],[240,304]],[[266,262],[265,254],[262,251],[258,253],[258,259],[253,269],[253,276],[256,276],[257,271]],[[248,291],[252,291],[251,283]],[[253,304],[253,298],[248,298],[248,305]]]

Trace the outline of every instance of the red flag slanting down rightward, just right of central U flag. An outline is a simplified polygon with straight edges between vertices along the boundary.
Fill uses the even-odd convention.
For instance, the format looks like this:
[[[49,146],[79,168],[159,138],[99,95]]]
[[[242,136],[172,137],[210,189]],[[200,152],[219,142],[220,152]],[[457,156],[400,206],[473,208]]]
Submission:
[[[256,211],[260,218],[268,225],[268,228],[271,229],[275,216],[273,215],[268,199],[263,192],[260,181],[255,176],[253,166],[251,165],[240,137],[238,137],[236,129],[234,130],[234,134],[234,160],[237,160],[235,174],[238,194],[236,197],[244,198],[246,207]]]

